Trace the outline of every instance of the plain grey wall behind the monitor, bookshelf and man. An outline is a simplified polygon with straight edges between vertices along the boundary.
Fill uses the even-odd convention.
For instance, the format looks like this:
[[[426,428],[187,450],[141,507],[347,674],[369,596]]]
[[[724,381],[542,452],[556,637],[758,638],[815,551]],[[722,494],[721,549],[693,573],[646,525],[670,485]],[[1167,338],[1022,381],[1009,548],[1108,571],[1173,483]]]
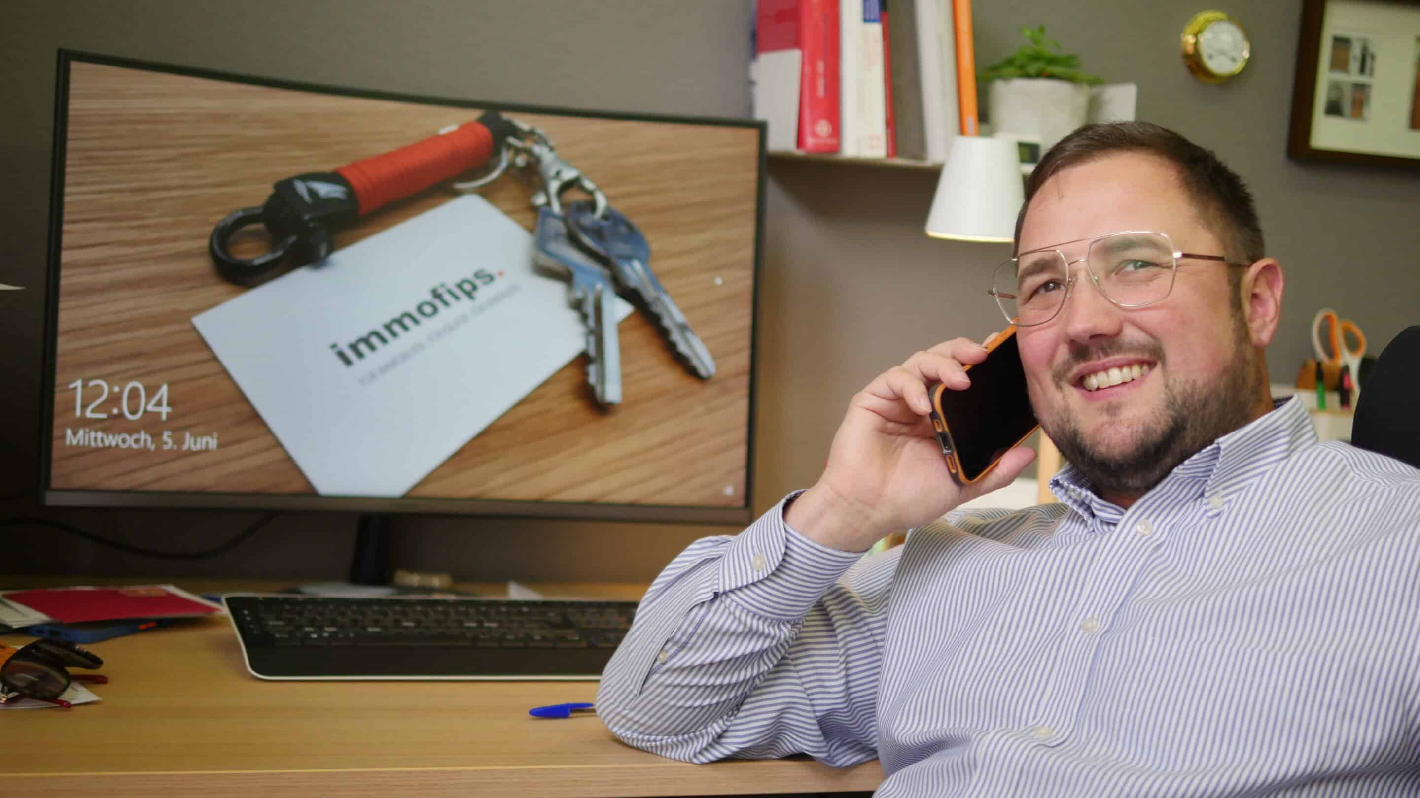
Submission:
[[[1254,57],[1228,85],[1183,68],[1179,33],[1197,3],[1041,0],[976,4],[978,64],[1045,23],[1110,81],[1139,82],[1139,115],[1216,149],[1251,183],[1269,250],[1287,267],[1287,314],[1269,354],[1289,382],[1319,305],[1362,322],[1373,345],[1420,321],[1420,173],[1298,165],[1285,158],[1299,0],[1225,6]],[[748,0],[419,0],[399,3],[11,0],[0,30],[3,163],[0,518],[68,521],[159,548],[204,548],[250,513],[51,511],[33,498],[40,328],[58,47],[312,82],[594,109],[748,112]],[[757,510],[811,483],[848,398],[913,351],[1000,327],[983,293],[1000,247],[922,234],[934,175],[771,162],[761,291]],[[38,527],[0,528],[0,572],[337,578],[354,518],[288,514],[234,552],[170,564]],[[686,542],[720,530],[545,521],[399,518],[408,567],[469,579],[645,581]]]

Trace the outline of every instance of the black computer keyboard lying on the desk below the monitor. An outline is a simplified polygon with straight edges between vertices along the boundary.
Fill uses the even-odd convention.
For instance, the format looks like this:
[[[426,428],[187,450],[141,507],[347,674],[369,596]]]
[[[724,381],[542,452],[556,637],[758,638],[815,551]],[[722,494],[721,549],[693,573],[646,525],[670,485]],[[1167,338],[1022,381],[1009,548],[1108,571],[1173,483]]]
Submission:
[[[261,679],[598,679],[630,601],[230,595]]]

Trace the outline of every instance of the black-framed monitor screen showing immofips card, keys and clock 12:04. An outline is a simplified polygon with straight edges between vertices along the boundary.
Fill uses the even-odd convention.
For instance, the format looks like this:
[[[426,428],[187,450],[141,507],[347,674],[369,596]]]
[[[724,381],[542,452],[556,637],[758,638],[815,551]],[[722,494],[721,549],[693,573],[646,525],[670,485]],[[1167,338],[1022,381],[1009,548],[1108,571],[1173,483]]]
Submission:
[[[55,121],[48,504],[750,518],[763,124],[71,51]]]

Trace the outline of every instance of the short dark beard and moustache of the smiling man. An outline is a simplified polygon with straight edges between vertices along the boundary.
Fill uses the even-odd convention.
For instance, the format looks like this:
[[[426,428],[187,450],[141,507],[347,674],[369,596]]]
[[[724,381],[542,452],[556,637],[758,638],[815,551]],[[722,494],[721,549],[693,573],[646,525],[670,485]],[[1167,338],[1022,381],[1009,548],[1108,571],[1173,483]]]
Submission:
[[[1208,385],[1203,382],[1169,381],[1163,386],[1164,406],[1154,419],[1145,422],[1137,443],[1119,454],[1108,454],[1092,447],[1071,417],[1041,427],[1061,454],[1079,470],[1099,493],[1142,494],[1163,481],[1174,467],[1193,457],[1214,440],[1252,420],[1257,408],[1257,361],[1252,355],[1247,328],[1234,318],[1237,346],[1233,362],[1223,376]],[[1071,364],[1125,354],[1119,344],[1071,351]],[[1136,346],[1133,349],[1137,349]],[[1163,349],[1146,346],[1154,368],[1162,364]],[[1139,354],[1137,351],[1133,354]],[[1056,369],[1061,371],[1061,369]],[[1062,385],[1056,379],[1056,385]],[[1069,389],[1069,385],[1065,385]]]

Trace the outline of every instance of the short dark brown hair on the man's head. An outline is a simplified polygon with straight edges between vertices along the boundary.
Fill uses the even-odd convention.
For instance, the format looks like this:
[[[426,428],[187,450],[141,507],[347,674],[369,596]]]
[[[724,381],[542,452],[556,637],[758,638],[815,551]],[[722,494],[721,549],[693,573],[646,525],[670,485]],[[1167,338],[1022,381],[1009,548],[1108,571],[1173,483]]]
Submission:
[[[1204,226],[1223,243],[1231,260],[1252,263],[1264,256],[1262,227],[1247,185],[1211,151],[1204,149],[1169,128],[1152,122],[1103,122],[1076,128],[1041,158],[1025,183],[1025,202],[1015,217],[1020,246],[1025,210],[1035,192],[1062,169],[1120,152],[1156,155],[1179,169],[1183,189],[1193,200]],[[1162,230],[1172,233],[1170,230]],[[1228,270],[1230,274],[1234,270]],[[1240,275],[1231,274],[1235,280]]]

